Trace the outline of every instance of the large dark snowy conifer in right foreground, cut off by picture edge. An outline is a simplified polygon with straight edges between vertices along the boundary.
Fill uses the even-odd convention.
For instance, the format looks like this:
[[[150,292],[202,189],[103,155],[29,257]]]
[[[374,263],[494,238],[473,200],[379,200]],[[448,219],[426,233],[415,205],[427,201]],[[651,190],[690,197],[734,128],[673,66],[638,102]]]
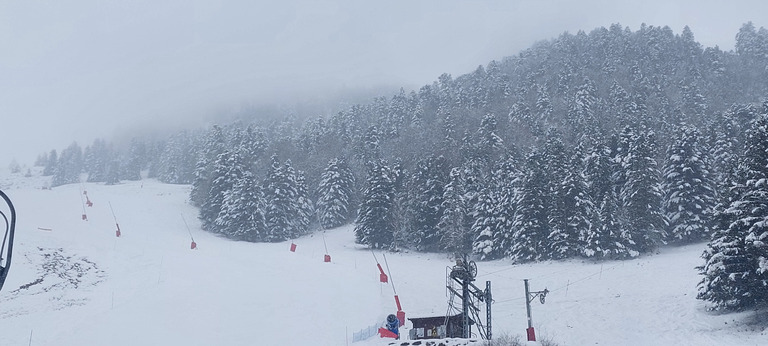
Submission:
[[[697,298],[713,310],[744,310],[768,301],[768,118],[747,132],[730,206],[716,210],[716,231],[699,267]],[[720,208],[723,207],[721,203]]]

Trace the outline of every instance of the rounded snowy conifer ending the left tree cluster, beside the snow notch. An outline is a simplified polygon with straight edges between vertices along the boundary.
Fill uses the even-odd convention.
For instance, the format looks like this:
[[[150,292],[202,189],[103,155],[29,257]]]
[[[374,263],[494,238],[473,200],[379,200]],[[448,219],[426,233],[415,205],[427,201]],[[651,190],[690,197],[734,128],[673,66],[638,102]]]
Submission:
[[[350,205],[355,177],[343,158],[328,162],[317,188],[317,213],[323,229],[348,223],[353,215]]]

